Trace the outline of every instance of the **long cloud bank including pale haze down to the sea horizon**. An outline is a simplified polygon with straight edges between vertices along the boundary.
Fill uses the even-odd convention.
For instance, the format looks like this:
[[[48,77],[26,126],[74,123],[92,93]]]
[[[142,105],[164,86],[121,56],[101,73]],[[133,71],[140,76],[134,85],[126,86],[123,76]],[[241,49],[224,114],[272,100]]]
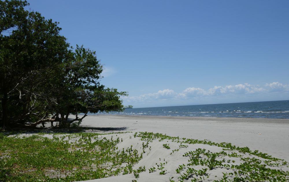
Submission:
[[[208,90],[189,87],[179,93],[165,89],[122,99],[124,105],[134,105],[134,107],[287,100],[289,99],[289,85],[279,82],[267,83],[263,86],[245,83],[214,86]]]

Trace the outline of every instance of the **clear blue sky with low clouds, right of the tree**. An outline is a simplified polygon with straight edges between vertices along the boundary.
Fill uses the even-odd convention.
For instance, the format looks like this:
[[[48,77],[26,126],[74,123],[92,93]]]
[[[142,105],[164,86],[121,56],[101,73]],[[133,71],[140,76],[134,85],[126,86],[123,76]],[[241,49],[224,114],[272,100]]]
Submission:
[[[289,100],[289,1],[39,1],[124,105]]]

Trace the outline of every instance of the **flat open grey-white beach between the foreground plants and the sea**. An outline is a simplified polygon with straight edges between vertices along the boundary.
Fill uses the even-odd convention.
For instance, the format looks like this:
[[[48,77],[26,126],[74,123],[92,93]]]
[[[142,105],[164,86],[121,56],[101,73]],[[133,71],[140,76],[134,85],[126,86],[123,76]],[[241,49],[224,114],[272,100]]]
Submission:
[[[289,161],[289,119],[88,115],[81,126],[96,132],[153,132],[228,142]]]

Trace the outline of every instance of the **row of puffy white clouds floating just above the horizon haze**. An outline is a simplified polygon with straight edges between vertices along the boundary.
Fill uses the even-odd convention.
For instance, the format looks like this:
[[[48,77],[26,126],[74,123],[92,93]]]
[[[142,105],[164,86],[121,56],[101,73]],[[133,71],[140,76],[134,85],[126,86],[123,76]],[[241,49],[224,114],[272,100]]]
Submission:
[[[231,96],[245,96],[253,95],[258,93],[269,94],[274,92],[289,92],[289,85],[281,84],[279,82],[273,82],[270,84],[265,84],[263,87],[259,85],[237,84],[237,85],[227,85],[227,86],[214,86],[208,90],[202,88],[189,87],[184,91],[177,93],[171,89],[159,90],[155,93],[142,94],[140,96],[129,96],[123,97],[123,100],[127,103],[139,103],[144,101],[170,101],[178,100],[180,103],[182,101],[188,101],[188,99],[194,98],[217,98],[221,96],[222,98]],[[200,99],[199,99],[200,100]]]

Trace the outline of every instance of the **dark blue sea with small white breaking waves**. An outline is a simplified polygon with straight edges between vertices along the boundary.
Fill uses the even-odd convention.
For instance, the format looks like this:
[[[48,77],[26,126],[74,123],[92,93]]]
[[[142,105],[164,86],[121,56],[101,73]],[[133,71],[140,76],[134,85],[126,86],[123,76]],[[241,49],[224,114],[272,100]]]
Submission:
[[[129,108],[125,109],[123,112],[109,112],[97,114],[159,115],[187,117],[254,117],[289,119],[289,101]]]

